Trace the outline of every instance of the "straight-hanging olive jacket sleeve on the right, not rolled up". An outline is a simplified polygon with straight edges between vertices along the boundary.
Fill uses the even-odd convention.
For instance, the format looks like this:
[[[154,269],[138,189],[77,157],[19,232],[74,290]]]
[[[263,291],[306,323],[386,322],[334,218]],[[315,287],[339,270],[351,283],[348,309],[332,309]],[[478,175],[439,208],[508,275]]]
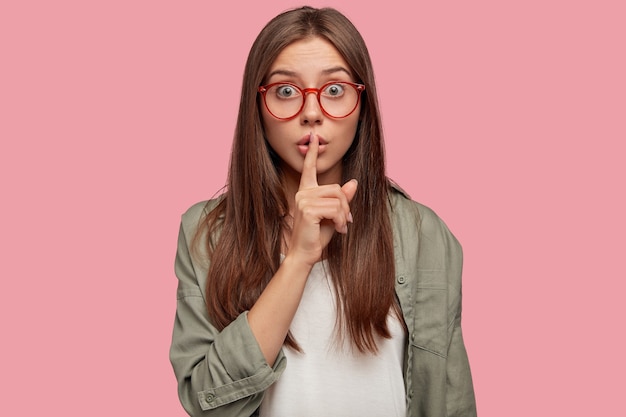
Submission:
[[[424,206],[420,208],[419,269],[425,280],[423,287],[435,288],[418,290],[431,303],[424,304],[426,311],[421,313],[420,342],[435,353],[420,360],[430,361],[431,369],[437,370],[423,383],[440,387],[429,388],[440,395],[434,396],[438,401],[431,404],[433,408],[426,407],[431,412],[424,415],[473,417],[476,416],[474,387],[461,330],[463,250],[434,212]]]

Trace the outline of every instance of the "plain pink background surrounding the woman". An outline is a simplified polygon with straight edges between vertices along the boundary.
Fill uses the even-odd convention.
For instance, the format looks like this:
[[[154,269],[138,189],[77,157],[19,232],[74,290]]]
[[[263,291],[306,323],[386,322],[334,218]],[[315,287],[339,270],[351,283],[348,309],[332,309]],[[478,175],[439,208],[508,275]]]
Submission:
[[[224,183],[241,75],[293,1],[0,5],[0,415],[183,416],[180,214]],[[332,4],[389,174],[465,249],[479,414],[623,412],[620,0]]]

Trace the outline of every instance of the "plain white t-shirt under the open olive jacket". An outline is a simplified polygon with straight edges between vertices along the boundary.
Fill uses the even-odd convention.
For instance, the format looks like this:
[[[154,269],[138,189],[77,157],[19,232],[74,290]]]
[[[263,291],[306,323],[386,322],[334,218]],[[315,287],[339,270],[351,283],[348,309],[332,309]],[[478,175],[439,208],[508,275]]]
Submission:
[[[309,275],[291,333],[303,350],[284,348],[287,367],[265,393],[261,417],[404,417],[402,372],[406,335],[388,318],[391,339],[362,354],[337,340],[335,290],[326,261]]]

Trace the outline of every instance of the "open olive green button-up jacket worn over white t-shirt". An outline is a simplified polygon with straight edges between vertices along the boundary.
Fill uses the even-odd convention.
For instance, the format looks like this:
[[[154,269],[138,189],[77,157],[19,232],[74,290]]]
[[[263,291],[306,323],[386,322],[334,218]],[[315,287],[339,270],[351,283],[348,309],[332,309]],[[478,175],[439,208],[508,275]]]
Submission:
[[[407,416],[475,416],[461,334],[461,246],[433,211],[411,201],[401,190],[395,189],[390,200],[396,294],[408,328],[404,369]],[[189,415],[251,416],[264,391],[288,364],[281,352],[274,366],[268,365],[250,330],[247,313],[221,332],[209,320],[207,265],[192,258],[189,248],[199,219],[215,203],[198,203],[182,216],[170,360],[180,401]],[[303,395],[305,392],[303,389]]]

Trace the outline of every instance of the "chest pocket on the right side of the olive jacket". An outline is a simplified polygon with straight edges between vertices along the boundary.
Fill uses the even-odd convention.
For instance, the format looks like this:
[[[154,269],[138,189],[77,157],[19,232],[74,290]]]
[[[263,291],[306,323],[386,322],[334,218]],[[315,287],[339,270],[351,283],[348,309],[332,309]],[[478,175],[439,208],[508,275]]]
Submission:
[[[448,355],[448,290],[445,286],[445,271],[420,271],[420,275],[422,279],[418,280],[415,293],[411,342],[415,347],[445,358]]]

